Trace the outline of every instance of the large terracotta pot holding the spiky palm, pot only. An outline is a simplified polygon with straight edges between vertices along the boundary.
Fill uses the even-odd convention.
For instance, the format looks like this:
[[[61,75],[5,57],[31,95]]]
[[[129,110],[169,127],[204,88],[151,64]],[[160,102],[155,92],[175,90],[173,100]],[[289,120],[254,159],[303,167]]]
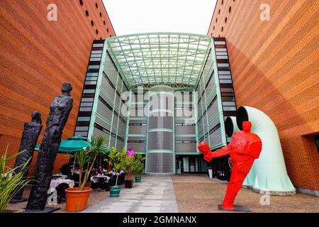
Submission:
[[[78,187],[65,189],[67,205],[65,209],[69,212],[83,211],[92,192],[90,187],[84,187],[79,191]]]

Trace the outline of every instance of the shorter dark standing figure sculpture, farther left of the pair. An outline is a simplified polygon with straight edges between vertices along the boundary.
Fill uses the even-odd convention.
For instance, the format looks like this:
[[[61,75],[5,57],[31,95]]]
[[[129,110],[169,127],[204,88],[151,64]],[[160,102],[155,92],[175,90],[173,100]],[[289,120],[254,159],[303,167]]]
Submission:
[[[42,121],[41,121],[41,114],[38,111],[34,111],[31,114],[31,122],[25,122],[19,152],[23,151],[18,157],[16,157],[15,163],[15,172],[23,171],[23,177],[28,177],[28,170],[31,164],[33,152],[35,149],[35,145],[37,143],[38,137],[40,135],[42,129]],[[30,161],[28,162],[28,160]],[[22,168],[23,165],[26,163],[26,167]],[[11,199],[10,203],[18,203],[21,201],[26,201],[27,199],[22,198],[23,195],[23,188]]]

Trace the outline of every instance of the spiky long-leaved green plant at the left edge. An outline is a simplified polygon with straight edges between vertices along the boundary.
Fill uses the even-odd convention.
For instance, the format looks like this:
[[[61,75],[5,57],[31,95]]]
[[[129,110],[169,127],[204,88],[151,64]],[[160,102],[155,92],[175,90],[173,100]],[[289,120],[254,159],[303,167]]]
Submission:
[[[7,156],[7,152],[8,147],[6,148],[4,155],[1,155],[0,159],[0,213],[6,211],[9,201],[11,201],[11,199],[13,199],[13,197],[30,182],[30,179],[23,177],[23,170],[25,170],[30,159],[22,166],[15,167],[13,169],[7,166],[8,160],[12,160],[24,151],[13,154],[9,157]],[[20,168],[22,171],[16,172],[16,170]]]

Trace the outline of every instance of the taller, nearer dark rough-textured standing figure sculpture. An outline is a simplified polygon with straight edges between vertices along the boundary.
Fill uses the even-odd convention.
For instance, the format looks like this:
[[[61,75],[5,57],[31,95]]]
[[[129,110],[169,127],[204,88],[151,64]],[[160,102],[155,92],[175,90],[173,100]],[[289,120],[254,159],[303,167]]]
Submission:
[[[38,153],[37,165],[35,167],[35,182],[30,192],[27,212],[38,212],[45,210],[47,202],[47,191],[50,188],[53,167],[57,150],[61,143],[62,131],[67,123],[67,118],[72,109],[73,98],[69,94],[72,85],[63,83],[62,94],[55,97],[50,106],[50,113],[47,117],[45,134],[43,136]],[[48,210],[48,212],[50,209]]]

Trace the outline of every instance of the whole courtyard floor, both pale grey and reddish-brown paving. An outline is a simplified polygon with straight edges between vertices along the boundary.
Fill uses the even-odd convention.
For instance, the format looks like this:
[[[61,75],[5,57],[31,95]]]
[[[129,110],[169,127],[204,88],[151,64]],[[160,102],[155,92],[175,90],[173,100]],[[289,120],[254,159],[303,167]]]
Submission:
[[[92,213],[213,213],[223,202],[227,182],[210,179],[207,175],[174,175],[172,177],[142,176],[142,182],[134,182],[132,189],[122,185],[119,197],[111,198],[109,192],[91,192],[87,209]],[[28,198],[30,189],[24,190]],[[319,197],[305,194],[293,196],[269,196],[269,204],[262,205],[263,194],[252,189],[241,189],[235,204],[249,206],[252,212],[293,213],[319,212]],[[66,212],[65,203],[58,204]],[[9,204],[8,209],[19,210],[26,202]]]

